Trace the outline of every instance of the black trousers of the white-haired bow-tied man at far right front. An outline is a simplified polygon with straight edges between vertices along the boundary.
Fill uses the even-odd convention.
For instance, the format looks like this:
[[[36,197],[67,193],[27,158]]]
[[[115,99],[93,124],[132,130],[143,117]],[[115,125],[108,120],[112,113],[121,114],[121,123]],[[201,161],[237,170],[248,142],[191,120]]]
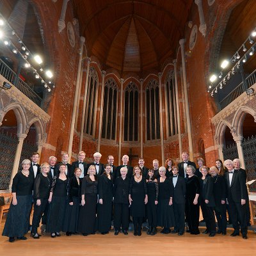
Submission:
[[[239,234],[239,225],[243,236],[247,234],[247,220],[246,220],[246,204],[241,205],[241,202],[236,203],[233,200],[228,201],[230,214],[232,218],[232,225],[234,232]]]

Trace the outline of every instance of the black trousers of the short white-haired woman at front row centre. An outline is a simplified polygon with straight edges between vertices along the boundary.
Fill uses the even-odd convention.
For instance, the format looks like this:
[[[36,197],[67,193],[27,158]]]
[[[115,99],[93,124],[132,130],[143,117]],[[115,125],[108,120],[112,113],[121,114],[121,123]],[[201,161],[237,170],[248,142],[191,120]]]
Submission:
[[[127,230],[129,227],[129,204],[115,204],[114,228]]]

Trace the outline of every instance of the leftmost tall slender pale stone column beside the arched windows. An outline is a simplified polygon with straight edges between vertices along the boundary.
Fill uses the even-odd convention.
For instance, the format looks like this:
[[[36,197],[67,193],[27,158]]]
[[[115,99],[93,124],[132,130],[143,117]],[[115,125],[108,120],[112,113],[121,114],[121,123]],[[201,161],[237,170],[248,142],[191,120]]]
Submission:
[[[78,91],[79,91],[79,79],[80,79],[81,66],[82,66],[84,41],[85,41],[85,38],[83,36],[81,36],[80,37],[80,49],[79,49],[79,61],[78,61],[77,76],[76,76],[76,91],[75,91],[75,95],[74,95],[74,104],[73,104],[72,119],[71,119],[71,125],[70,125],[69,141],[68,141],[69,161],[72,157],[72,145],[73,145],[75,122],[76,122],[77,95],[78,95]]]

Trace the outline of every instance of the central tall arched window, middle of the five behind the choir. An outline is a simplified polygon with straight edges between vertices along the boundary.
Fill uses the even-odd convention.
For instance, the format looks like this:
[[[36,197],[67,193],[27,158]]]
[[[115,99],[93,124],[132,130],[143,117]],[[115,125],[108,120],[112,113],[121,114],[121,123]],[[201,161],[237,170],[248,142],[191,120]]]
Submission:
[[[124,141],[138,141],[138,86],[130,82],[124,91]]]

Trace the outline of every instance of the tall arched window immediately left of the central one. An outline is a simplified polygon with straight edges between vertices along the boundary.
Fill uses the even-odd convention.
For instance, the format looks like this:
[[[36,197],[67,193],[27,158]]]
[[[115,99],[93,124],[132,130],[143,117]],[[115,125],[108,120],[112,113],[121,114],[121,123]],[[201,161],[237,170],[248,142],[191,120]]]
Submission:
[[[118,87],[114,79],[109,78],[104,85],[104,103],[101,138],[115,140],[117,124]]]

